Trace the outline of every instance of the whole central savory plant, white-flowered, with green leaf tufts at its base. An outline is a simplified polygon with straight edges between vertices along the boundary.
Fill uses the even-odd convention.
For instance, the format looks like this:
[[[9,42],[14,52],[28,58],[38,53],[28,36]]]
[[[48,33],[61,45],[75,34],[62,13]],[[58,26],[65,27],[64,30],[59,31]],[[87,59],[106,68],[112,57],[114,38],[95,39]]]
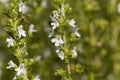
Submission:
[[[49,38],[56,47],[58,57],[66,63],[65,69],[58,69],[55,76],[60,76],[60,80],[74,80],[71,76],[71,59],[77,57],[77,47],[74,44],[81,35],[78,32],[79,28],[76,25],[75,19],[71,18],[71,8],[64,0],[53,0],[55,10],[50,15],[51,30]],[[76,64],[75,72],[83,72],[83,67]],[[78,69],[79,68],[79,69]]]

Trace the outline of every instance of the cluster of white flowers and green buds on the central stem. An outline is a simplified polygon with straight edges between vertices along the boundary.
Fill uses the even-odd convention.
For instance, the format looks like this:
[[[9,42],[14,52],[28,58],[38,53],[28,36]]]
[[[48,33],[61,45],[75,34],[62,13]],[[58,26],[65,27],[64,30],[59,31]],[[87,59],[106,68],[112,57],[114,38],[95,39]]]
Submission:
[[[67,19],[67,8],[67,5],[61,4],[61,8],[54,10],[50,16],[51,32],[48,37],[51,38],[51,42],[54,43],[57,48],[56,53],[61,60],[64,60],[65,56],[68,55],[66,51],[70,51],[72,58],[77,57],[76,47],[70,48],[71,46],[68,43],[72,42],[70,40],[72,40],[73,37],[75,39],[81,37],[75,20]],[[73,41],[75,39],[73,39]],[[65,48],[67,48],[67,50]]]

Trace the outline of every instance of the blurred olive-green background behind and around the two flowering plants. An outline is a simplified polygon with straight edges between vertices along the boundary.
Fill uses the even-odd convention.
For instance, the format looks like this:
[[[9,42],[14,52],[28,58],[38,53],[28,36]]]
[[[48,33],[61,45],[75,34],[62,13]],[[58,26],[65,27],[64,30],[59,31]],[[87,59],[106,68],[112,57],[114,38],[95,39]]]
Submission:
[[[26,31],[30,24],[37,30],[28,39],[30,58],[40,56],[32,72],[40,74],[41,80],[57,80],[54,72],[64,67],[48,38],[50,14],[54,10],[52,0],[26,0]],[[76,43],[78,56],[71,65],[84,67],[81,75],[73,74],[73,80],[120,80],[120,0],[66,0],[72,8],[71,17],[80,28],[81,38]],[[0,80],[12,80],[14,72],[6,70],[9,60],[15,59],[7,48],[8,37],[4,28],[8,18],[3,14],[8,9],[7,0],[0,0]],[[74,69],[73,69],[74,73]]]

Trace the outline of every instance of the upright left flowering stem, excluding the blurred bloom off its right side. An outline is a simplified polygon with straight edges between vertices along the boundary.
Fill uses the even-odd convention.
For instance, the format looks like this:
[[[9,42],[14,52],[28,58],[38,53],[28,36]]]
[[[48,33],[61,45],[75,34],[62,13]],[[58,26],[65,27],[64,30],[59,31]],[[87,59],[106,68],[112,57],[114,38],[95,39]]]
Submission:
[[[6,13],[10,16],[6,27],[6,32],[10,38],[7,38],[6,42],[8,43],[8,47],[13,50],[12,55],[18,60],[16,64],[11,60],[9,66],[6,67],[7,69],[13,68],[16,71],[13,80],[28,79],[26,67],[28,66],[28,59],[26,59],[27,51],[25,48],[26,31],[23,30],[22,25],[22,16],[24,15],[23,13],[25,13],[25,8],[22,0],[10,0],[9,9]]]

